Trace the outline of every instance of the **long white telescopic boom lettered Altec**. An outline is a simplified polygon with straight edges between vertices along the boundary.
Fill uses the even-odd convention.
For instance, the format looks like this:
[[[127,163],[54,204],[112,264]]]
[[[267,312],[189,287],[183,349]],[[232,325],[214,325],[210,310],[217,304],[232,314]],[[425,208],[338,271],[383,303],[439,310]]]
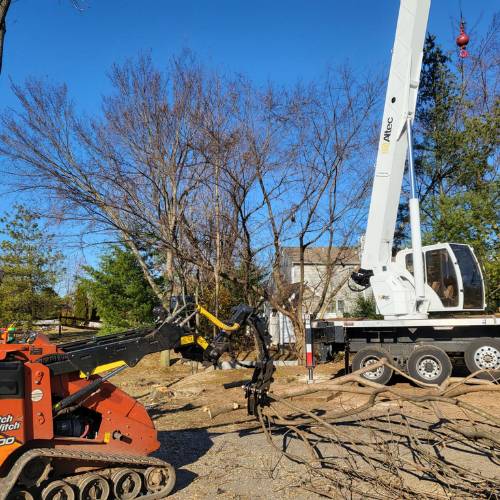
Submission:
[[[430,0],[401,0],[392,50],[361,267],[391,262],[405,159],[408,119],[413,121]]]

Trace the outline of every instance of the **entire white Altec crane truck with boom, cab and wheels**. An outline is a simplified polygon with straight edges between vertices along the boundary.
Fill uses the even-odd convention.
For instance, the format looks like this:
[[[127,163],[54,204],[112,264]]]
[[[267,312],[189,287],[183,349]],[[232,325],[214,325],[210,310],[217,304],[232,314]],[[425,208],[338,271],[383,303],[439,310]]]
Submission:
[[[412,123],[430,0],[401,0],[380,132],[361,266],[353,281],[371,287],[383,320],[312,321],[315,343],[354,353],[359,369],[385,357],[422,382],[441,383],[456,360],[484,377],[500,377],[500,318],[486,315],[484,281],[473,249],[422,246]],[[405,161],[410,184],[411,245],[392,257]],[[418,256],[418,258],[416,258]],[[464,314],[468,313],[468,314]],[[392,370],[366,372],[385,384]]]

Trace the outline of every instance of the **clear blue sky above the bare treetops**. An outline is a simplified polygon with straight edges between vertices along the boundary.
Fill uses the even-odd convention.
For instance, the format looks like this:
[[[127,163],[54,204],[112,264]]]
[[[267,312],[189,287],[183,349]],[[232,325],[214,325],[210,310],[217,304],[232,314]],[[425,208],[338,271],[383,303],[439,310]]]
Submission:
[[[460,0],[434,0],[429,30],[446,48],[458,34]],[[348,60],[359,71],[388,68],[398,0],[13,0],[7,17],[0,108],[16,106],[10,80],[66,82],[81,109],[98,109],[114,62],[150,52],[161,65],[183,48],[208,67],[256,83],[292,85]],[[498,0],[462,0],[482,33]],[[474,50],[474,39],[470,44]],[[1,161],[1,160],[0,160]],[[2,193],[0,211],[12,197]]]

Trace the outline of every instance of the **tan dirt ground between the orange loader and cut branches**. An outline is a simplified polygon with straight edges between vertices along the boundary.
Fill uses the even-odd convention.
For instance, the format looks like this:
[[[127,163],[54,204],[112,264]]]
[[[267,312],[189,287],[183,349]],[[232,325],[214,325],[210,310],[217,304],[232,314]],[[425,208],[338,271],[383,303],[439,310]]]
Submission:
[[[155,421],[161,441],[157,455],[177,469],[172,498],[319,498],[302,488],[308,475],[305,467],[282,458],[246,409],[212,420],[203,410],[207,405],[241,399],[241,385],[250,378],[250,369],[196,373],[189,363],[175,361],[170,368],[158,368],[159,355],[151,355],[114,378],[116,385],[148,408]],[[315,376],[330,378],[341,369],[341,363],[322,365]],[[302,367],[278,367],[275,380],[290,387],[303,384],[305,372]],[[396,385],[410,388],[402,379]],[[357,396],[341,404],[354,404],[353,397]],[[483,393],[465,399],[493,415],[500,412],[498,397]],[[304,397],[297,404],[328,409],[339,401]],[[479,459],[475,465],[492,467]]]

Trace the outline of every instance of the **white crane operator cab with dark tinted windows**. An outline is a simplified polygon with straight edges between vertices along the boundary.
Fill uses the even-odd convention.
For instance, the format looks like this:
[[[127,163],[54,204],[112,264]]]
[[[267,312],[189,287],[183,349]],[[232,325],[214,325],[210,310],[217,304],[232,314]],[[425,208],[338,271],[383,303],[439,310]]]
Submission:
[[[483,311],[484,281],[469,245],[438,243],[422,247],[429,312]],[[413,275],[413,251],[401,250],[396,263]]]

